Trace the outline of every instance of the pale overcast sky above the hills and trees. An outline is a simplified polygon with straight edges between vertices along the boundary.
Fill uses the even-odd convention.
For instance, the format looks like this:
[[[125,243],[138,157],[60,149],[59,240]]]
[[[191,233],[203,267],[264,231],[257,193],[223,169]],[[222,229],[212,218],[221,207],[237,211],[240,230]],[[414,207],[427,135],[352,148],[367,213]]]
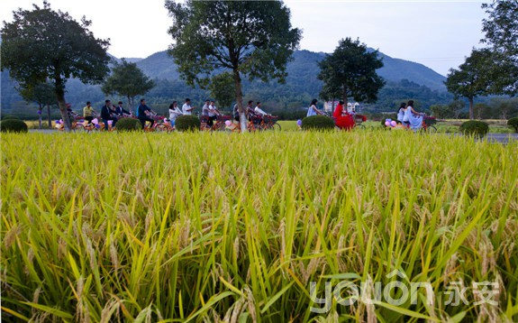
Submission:
[[[53,10],[77,21],[92,21],[96,38],[110,39],[117,58],[146,58],[172,42],[172,21],[164,0],[50,0]],[[303,30],[301,50],[332,52],[342,38],[367,44],[388,56],[411,60],[446,76],[458,68],[484,37],[483,1],[301,1],[285,0],[292,25]],[[42,0],[1,0],[0,20],[13,20],[17,8],[42,6]]]

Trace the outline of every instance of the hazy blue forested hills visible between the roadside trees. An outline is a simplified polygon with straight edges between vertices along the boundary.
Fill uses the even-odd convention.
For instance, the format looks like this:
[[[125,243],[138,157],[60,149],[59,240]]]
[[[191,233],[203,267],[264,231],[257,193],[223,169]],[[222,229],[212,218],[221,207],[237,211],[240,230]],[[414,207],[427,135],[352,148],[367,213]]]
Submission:
[[[323,52],[295,51],[294,60],[287,64],[288,76],[286,84],[279,85],[275,81],[264,83],[261,81],[243,81],[243,93],[246,100],[260,100],[270,109],[291,110],[295,107],[307,106],[312,98],[318,97],[322,88],[322,81],[318,80],[320,69],[318,62],[325,57]],[[391,111],[395,104],[401,100],[414,99],[419,106],[427,108],[433,104],[447,104],[451,96],[446,92],[442,83],[446,78],[422,64],[406,60],[394,59],[380,53],[384,67],[377,73],[386,79],[386,86],[381,89],[377,103],[368,105],[370,111]],[[154,106],[168,106],[172,100],[183,101],[185,97],[191,97],[202,101],[209,94],[199,88],[187,87],[185,82],[179,79],[179,75],[172,58],[167,51],[159,51],[146,59],[128,59],[136,62],[137,66],[155,80],[156,87],[151,89],[146,98]],[[22,111],[35,107],[27,105],[15,90],[15,82],[9,78],[6,71],[2,72],[2,110],[11,113],[11,110]],[[99,86],[84,85],[77,79],[71,79],[67,83],[67,100],[75,108],[85,105],[87,100],[94,106],[100,106],[105,95]],[[123,97],[110,96],[112,100],[125,99]],[[14,112],[14,111],[13,111]]]

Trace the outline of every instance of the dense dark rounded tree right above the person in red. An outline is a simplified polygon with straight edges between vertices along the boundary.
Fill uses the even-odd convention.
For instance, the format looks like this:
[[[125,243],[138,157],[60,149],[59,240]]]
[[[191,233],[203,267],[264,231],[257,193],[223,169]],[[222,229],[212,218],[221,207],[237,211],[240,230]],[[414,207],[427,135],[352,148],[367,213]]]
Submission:
[[[349,97],[357,102],[375,102],[377,92],[385,85],[376,73],[376,69],[383,67],[377,53],[368,52],[367,46],[359,40],[342,39],[332,54],[326,55],[318,64],[317,78],[323,80],[321,96],[341,97],[346,106]]]

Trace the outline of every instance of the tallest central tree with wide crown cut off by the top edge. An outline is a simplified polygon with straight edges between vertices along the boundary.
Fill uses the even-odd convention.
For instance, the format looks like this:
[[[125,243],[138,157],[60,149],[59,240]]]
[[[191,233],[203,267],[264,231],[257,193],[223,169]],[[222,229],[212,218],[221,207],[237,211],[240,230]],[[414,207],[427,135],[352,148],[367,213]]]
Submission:
[[[278,0],[166,0],[166,8],[173,18],[168,33],[175,41],[168,53],[181,78],[204,88],[215,69],[231,71],[244,132],[241,75],[284,82],[286,63],[301,39],[301,31],[291,28],[289,9]]]

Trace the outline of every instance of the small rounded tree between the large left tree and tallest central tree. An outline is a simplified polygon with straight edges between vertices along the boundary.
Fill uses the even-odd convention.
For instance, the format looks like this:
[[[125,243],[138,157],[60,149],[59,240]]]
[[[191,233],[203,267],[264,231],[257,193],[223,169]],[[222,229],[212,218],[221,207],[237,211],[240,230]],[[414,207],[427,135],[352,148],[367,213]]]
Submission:
[[[155,82],[148,78],[136,63],[123,59],[122,63],[114,62],[112,75],[106,78],[102,90],[105,94],[119,94],[128,99],[128,106],[134,106],[137,96],[143,96],[155,87]]]

